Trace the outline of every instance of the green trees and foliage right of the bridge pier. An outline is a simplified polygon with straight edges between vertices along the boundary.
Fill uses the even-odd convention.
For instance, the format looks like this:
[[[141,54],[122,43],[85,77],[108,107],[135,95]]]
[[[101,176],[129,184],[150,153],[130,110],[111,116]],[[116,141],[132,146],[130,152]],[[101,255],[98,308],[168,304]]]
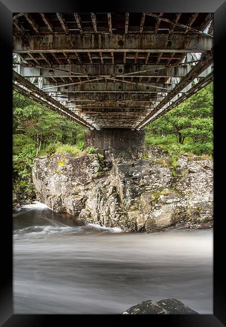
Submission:
[[[166,149],[177,143],[181,153],[213,154],[213,84],[188,98],[146,127],[146,143]],[[181,147],[180,147],[181,145]]]

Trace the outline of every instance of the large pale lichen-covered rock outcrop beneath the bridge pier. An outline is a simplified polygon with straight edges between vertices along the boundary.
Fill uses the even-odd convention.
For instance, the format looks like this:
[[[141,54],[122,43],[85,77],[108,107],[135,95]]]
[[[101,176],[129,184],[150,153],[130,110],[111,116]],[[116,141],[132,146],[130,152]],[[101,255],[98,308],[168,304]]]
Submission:
[[[98,154],[36,158],[33,182],[41,201],[76,219],[127,231],[212,226],[212,160],[183,154],[172,168],[168,152],[150,146]]]

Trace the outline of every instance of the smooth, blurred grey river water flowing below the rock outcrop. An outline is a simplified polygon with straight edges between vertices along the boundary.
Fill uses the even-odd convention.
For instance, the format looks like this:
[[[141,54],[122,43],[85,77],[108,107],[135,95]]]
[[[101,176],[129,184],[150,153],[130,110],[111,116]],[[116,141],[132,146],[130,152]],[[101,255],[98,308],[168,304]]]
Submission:
[[[14,216],[14,313],[114,314],[177,298],[212,314],[212,237],[126,233],[27,206]]]

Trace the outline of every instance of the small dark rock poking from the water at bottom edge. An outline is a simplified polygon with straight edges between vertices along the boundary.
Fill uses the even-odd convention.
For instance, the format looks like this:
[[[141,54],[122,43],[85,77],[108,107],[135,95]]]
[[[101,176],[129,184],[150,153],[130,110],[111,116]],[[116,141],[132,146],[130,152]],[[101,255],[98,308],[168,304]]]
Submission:
[[[132,306],[122,314],[199,314],[177,299],[166,299],[159,302],[143,301]]]

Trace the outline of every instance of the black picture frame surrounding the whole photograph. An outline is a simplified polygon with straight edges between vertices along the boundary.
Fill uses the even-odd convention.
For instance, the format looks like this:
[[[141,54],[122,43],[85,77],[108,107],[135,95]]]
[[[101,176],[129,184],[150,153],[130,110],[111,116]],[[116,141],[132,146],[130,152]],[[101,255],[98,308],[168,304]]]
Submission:
[[[225,175],[223,155],[224,148],[221,145],[225,130],[224,120],[221,118],[224,111],[223,90],[224,84],[220,81],[224,70],[223,46],[225,45],[225,16],[226,4],[223,0],[152,0],[129,2],[114,0],[114,2],[75,2],[59,0],[2,0],[0,2],[0,32],[1,32],[1,79],[2,79],[2,149],[0,167],[2,190],[2,278],[0,292],[0,324],[4,327],[12,326],[56,326],[69,325],[69,319],[74,324],[77,315],[26,315],[13,314],[13,241],[12,241],[12,13],[13,12],[205,12],[214,13],[214,278],[213,278],[213,314],[212,315],[107,315],[103,317],[105,323],[136,323],[148,318],[150,325],[163,324],[167,326],[182,327],[220,327],[226,325],[226,292],[224,260],[224,230],[225,217],[223,214],[224,188],[223,176]],[[4,71],[5,70],[5,71]],[[5,103],[5,104],[4,104]],[[5,131],[4,131],[5,127]],[[1,144],[1,143],[0,143]],[[223,144],[223,143],[222,143]],[[224,155],[225,157],[225,155]],[[222,211],[220,210],[222,208]],[[5,238],[3,237],[5,236]],[[91,318],[91,323],[100,322],[104,315],[82,315],[82,323]],[[109,319],[110,318],[110,319]]]

